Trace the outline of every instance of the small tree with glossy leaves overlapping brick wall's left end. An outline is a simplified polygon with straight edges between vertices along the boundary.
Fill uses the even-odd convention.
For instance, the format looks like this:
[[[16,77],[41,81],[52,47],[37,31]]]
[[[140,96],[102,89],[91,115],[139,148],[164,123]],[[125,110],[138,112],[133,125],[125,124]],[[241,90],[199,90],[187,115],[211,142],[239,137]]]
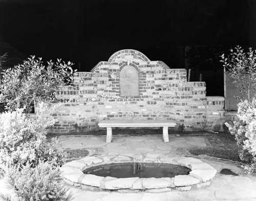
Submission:
[[[32,111],[37,102],[51,102],[55,92],[66,83],[72,83],[73,70],[70,61],[48,62],[45,66],[41,58],[31,56],[23,64],[14,66],[3,72],[0,87],[0,102],[5,102],[10,111],[26,107],[25,112]]]

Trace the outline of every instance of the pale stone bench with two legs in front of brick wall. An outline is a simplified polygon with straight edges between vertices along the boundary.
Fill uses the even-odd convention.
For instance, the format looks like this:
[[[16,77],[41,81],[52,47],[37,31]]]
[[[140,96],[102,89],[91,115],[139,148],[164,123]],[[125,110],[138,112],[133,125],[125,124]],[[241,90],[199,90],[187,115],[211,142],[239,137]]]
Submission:
[[[106,142],[112,141],[112,127],[163,127],[163,141],[169,142],[168,127],[176,123],[167,120],[103,120],[99,127],[106,127]]]

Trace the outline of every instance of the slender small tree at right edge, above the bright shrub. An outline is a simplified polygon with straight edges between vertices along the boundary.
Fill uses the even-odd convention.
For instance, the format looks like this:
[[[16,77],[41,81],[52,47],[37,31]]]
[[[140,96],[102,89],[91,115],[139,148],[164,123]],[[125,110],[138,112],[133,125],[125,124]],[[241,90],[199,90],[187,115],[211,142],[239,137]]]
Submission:
[[[256,52],[249,48],[246,53],[237,46],[234,50],[230,50],[230,56],[229,61],[223,54],[221,62],[227,68],[227,73],[234,79],[236,87],[240,88],[238,98],[251,102],[256,93]]]

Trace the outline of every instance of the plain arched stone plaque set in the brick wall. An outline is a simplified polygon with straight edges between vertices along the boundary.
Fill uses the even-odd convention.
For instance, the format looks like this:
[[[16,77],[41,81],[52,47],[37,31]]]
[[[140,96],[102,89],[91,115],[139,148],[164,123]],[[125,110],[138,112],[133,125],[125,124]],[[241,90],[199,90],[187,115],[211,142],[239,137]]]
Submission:
[[[139,96],[139,72],[132,65],[120,71],[120,96]]]

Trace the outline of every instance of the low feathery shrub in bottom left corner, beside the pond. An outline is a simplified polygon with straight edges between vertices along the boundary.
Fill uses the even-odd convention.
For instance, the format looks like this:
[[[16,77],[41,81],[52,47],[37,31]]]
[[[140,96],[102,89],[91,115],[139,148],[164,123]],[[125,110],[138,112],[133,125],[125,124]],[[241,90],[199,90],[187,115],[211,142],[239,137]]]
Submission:
[[[68,201],[71,193],[64,187],[59,168],[39,162],[31,168],[27,163],[22,168],[11,166],[7,169],[7,182],[16,192],[19,201]]]

